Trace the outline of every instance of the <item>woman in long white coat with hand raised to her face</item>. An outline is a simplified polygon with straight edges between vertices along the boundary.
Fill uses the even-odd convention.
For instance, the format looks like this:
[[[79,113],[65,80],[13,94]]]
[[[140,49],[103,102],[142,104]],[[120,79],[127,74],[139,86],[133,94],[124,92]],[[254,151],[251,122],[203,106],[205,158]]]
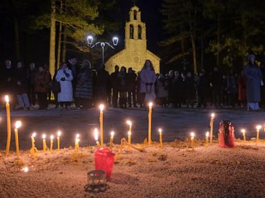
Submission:
[[[58,94],[58,102],[61,107],[66,104],[66,107],[70,106],[72,102],[72,71],[67,67],[67,63],[62,63],[60,69],[57,72],[56,80],[61,85],[61,92]]]

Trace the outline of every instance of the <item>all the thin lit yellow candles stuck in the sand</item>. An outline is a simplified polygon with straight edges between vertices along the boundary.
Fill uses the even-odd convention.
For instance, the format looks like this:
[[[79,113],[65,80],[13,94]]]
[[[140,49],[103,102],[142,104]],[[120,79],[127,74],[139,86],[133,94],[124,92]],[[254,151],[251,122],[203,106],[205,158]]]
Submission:
[[[11,125],[10,125],[10,104],[9,104],[9,97],[5,96],[6,100],[6,116],[7,116],[7,144],[6,144],[6,154],[8,155],[10,151],[10,139],[11,139]],[[148,111],[148,144],[150,145],[152,143],[151,137],[152,137],[152,108],[153,108],[153,102],[148,103],[149,111]],[[100,142],[99,142],[99,132],[97,128],[94,131],[94,136],[95,136],[95,141],[97,146],[104,146],[104,104],[99,105],[99,130],[100,130]],[[208,142],[210,144],[213,143],[213,126],[215,122],[215,113],[211,113],[210,115],[210,132],[206,133],[206,145],[208,145]],[[128,144],[131,144],[131,138],[132,138],[132,122],[128,120],[126,122],[129,126],[129,131],[128,131]],[[18,129],[21,126],[21,121],[17,121],[15,123],[15,129],[14,129],[14,137],[15,137],[15,144],[16,144],[16,153],[19,155],[19,135],[18,135]],[[259,142],[259,131],[262,129],[262,126],[258,125],[256,127],[257,129],[257,138],[256,141],[257,143]],[[265,129],[264,129],[265,130]],[[160,146],[163,146],[162,142],[162,130],[159,129],[159,142]],[[244,142],[246,142],[246,130],[242,129],[242,134],[243,134],[243,139]],[[34,153],[37,151],[37,148],[35,147],[35,137],[37,133],[32,133],[31,139],[32,139],[32,148],[31,151]],[[57,133],[57,149],[59,151],[60,149],[60,136],[61,136],[61,131],[58,131]],[[210,141],[209,141],[210,138]],[[46,134],[42,135],[43,139],[43,151],[47,150],[47,145],[46,145]],[[110,147],[113,146],[113,139],[114,139],[114,132],[112,131],[110,133]],[[53,141],[54,141],[54,135],[50,135],[50,151],[53,150]],[[79,150],[79,141],[80,141],[80,135],[77,134],[75,137],[75,150]],[[190,141],[192,146],[194,147],[195,144],[195,133],[192,132],[190,133]]]

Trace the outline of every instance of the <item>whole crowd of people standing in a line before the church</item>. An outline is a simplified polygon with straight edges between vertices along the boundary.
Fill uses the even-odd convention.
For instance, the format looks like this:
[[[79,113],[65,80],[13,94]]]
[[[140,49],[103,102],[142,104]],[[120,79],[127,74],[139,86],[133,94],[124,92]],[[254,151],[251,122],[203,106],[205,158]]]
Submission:
[[[12,98],[15,109],[48,109],[50,102],[59,109],[89,109],[102,102],[115,108],[145,108],[154,101],[161,107],[258,110],[265,101],[265,67],[257,66],[254,55],[248,56],[242,72],[228,74],[214,67],[212,72],[201,70],[194,76],[186,65],[179,71],[156,74],[149,60],[137,73],[132,67],[116,65],[109,74],[104,65],[95,70],[88,60],[79,64],[71,57],[61,63],[53,78],[45,65],[25,67],[19,61],[13,66],[10,60],[5,61],[0,76],[0,91]]]

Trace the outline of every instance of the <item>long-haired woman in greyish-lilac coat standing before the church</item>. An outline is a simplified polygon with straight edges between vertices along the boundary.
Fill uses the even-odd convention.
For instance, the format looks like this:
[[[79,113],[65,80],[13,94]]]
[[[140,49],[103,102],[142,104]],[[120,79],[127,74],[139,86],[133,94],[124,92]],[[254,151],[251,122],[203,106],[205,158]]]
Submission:
[[[140,89],[141,97],[144,98],[144,102],[150,100],[155,101],[155,81],[157,76],[155,75],[155,69],[153,63],[150,60],[146,60],[144,67],[139,74],[140,77]]]

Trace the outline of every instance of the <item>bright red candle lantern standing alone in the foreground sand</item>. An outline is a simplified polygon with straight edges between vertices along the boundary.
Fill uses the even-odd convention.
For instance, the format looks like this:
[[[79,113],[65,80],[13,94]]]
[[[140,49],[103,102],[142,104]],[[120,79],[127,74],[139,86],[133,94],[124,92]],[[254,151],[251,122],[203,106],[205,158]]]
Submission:
[[[97,148],[95,151],[95,168],[104,170],[108,179],[112,173],[114,157],[115,153],[112,153],[109,148]]]

